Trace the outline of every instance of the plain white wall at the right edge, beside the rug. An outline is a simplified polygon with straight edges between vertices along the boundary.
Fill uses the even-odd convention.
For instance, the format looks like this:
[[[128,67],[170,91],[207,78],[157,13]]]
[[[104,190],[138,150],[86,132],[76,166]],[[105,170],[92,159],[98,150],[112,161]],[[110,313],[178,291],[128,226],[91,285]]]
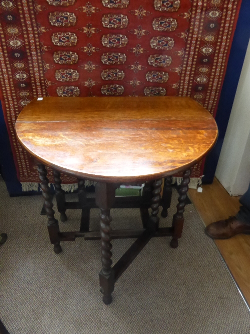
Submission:
[[[232,196],[242,195],[250,182],[250,41],[215,176]]]

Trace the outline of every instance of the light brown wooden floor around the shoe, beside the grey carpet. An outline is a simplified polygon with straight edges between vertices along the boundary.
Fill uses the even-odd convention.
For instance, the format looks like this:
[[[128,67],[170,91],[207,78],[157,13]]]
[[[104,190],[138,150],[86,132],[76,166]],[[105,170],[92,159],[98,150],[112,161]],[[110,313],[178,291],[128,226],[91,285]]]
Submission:
[[[229,196],[216,178],[212,184],[202,185],[202,189],[202,193],[196,189],[189,189],[188,193],[205,225],[237,213],[238,197]],[[250,305],[250,235],[239,234],[227,240],[215,240],[215,243]]]

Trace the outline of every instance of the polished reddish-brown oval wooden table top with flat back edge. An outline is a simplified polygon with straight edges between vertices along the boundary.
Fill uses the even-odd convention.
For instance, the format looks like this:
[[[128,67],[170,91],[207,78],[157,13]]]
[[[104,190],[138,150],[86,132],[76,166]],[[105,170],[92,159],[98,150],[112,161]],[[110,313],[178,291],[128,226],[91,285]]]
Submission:
[[[32,156],[61,172],[138,182],[200,161],[217,126],[188,97],[44,97],[21,111],[16,134]]]

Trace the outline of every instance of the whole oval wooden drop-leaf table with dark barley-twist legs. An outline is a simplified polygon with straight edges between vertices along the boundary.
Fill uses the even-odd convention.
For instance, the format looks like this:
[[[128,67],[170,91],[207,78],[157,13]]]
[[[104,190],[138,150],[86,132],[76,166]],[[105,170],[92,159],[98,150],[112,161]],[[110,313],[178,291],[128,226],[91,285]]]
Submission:
[[[59,231],[45,166],[53,169],[57,187],[59,172],[97,181],[95,202],[100,208],[102,262],[99,280],[103,301],[108,304],[114,282],[151,237],[171,236],[170,245],[177,247],[190,168],[215,144],[217,126],[203,107],[187,97],[44,97],[41,101],[33,99],[21,111],[16,134],[38,161],[48,232],[55,252],[61,251],[60,241],[86,238],[93,232]],[[169,177],[180,171],[183,179],[172,227],[158,228],[162,178],[169,187]],[[115,188],[121,183],[149,180],[154,180],[151,215],[142,217],[144,228],[133,233],[138,238],[111,267],[111,238],[129,237],[126,233],[118,236],[110,228]]]

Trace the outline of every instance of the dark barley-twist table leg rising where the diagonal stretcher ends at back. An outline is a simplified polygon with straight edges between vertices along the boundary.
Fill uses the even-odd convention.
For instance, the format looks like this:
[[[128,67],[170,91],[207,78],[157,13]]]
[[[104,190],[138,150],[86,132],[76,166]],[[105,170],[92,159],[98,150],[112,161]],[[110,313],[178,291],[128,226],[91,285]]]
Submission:
[[[161,192],[162,179],[156,180],[153,183],[153,191],[151,198],[151,215],[149,217],[148,228],[152,231],[156,231],[159,226],[159,217],[157,216],[159,212],[159,201]]]

